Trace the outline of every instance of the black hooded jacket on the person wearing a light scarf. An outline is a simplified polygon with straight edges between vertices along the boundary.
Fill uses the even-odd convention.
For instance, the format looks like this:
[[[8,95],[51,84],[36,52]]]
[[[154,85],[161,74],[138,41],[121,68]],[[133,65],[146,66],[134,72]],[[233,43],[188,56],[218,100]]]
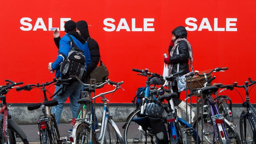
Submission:
[[[187,31],[184,26],[178,26],[172,31],[172,34],[176,36],[176,40],[178,38],[187,38]],[[178,51],[179,54],[177,54],[177,50],[175,49],[173,52],[173,55],[170,57],[170,62],[173,64],[172,66],[172,74],[177,72],[177,64],[180,63],[180,71],[184,70],[184,72],[181,75],[184,75],[188,72],[189,70],[189,65],[188,65],[188,58],[189,58],[189,51],[188,51],[188,44],[184,41],[181,40],[178,43]],[[172,47],[169,46],[169,54],[172,50]]]

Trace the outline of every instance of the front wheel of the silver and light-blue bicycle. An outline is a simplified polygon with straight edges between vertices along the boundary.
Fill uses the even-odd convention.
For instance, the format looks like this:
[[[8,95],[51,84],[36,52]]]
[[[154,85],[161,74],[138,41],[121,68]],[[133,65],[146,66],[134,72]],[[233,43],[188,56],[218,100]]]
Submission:
[[[118,127],[116,126],[114,121],[111,118],[109,118],[108,124],[106,127],[106,133],[105,133],[105,140],[104,140],[105,144],[123,144],[124,143],[119,130],[117,131],[116,129],[118,129]]]

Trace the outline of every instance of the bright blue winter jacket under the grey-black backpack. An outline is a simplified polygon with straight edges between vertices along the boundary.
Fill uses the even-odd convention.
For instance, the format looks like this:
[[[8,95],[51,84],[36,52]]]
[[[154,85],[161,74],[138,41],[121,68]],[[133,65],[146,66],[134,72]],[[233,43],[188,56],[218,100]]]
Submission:
[[[56,78],[59,78],[61,76],[61,73],[60,73],[60,63],[63,62],[67,58],[68,52],[72,48],[72,46],[70,46],[70,41],[71,40],[68,37],[68,35],[71,36],[71,38],[73,39],[73,41],[76,44],[76,46],[78,46],[78,48],[80,48],[82,51],[84,51],[86,68],[87,68],[88,64],[90,64],[90,62],[91,62],[90,50],[88,48],[87,42],[82,44],[78,39],[76,39],[71,34],[66,34],[65,36],[63,36],[60,39],[59,54],[58,54],[56,60],[54,61],[54,63],[52,63],[52,69],[56,70],[56,73],[55,73]]]

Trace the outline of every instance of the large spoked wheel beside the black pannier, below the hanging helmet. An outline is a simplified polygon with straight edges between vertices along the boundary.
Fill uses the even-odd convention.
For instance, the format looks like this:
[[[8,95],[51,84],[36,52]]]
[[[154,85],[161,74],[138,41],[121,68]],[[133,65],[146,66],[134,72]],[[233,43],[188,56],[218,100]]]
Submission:
[[[136,109],[128,117],[127,123],[124,128],[124,143],[137,143],[137,144],[156,144],[156,136],[153,131],[147,129],[145,132],[136,122],[133,122],[133,118],[138,118],[140,115],[140,109]],[[147,138],[147,140],[146,140]]]

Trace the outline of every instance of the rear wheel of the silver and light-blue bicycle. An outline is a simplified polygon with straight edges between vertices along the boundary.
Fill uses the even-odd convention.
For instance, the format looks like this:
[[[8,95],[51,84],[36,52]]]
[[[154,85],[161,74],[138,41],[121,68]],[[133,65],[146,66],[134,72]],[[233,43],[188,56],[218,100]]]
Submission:
[[[96,144],[97,142],[93,132],[90,140],[90,132],[91,129],[89,128],[88,124],[79,124],[76,128],[76,144]]]

